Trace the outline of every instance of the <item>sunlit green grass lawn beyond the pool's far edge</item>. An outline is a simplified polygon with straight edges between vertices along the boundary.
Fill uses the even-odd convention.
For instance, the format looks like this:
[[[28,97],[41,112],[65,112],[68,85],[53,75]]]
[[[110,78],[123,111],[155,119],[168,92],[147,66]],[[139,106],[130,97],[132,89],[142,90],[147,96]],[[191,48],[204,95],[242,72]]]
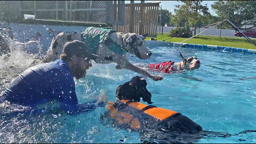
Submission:
[[[146,40],[149,40],[151,37],[147,37]],[[250,37],[251,38],[251,37]],[[165,42],[182,42],[187,38],[173,37],[171,38],[169,34],[157,34],[157,41]],[[255,38],[251,38],[254,43],[256,43]],[[236,38],[236,37],[219,37],[219,36],[198,36],[189,39],[184,43],[190,44],[204,44],[204,45],[218,45],[218,46],[229,46],[229,47],[238,47],[243,49],[254,49],[256,47],[247,41],[246,38]]]

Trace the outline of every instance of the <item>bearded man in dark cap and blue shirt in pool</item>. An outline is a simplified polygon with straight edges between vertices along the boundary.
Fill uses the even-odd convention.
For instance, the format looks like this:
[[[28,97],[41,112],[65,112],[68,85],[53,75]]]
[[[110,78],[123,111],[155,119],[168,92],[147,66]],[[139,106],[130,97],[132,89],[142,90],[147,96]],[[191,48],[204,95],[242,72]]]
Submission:
[[[98,55],[91,54],[84,42],[67,42],[63,46],[60,59],[28,68],[15,78],[0,97],[0,103],[9,101],[35,107],[57,100],[68,114],[78,114],[104,106],[107,99],[78,104],[73,79],[85,77],[86,70],[92,66],[91,60],[97,58]]]

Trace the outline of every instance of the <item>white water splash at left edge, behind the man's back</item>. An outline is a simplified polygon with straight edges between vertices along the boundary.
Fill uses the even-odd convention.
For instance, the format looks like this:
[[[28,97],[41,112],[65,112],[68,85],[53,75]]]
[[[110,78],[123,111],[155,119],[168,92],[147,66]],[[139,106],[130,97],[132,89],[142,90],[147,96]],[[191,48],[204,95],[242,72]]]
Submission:
[[[22,71],[39,62],[43,57],[42,45],[39,40],[19,42],[10,37],[6,29],[0,29],[0,35],[7,40],[10,51],[0,56],[0,92],[4,91],[13,78]],[[33,53],[33,51],[35,51]],[[38,52],[38,53],[36,53]]]

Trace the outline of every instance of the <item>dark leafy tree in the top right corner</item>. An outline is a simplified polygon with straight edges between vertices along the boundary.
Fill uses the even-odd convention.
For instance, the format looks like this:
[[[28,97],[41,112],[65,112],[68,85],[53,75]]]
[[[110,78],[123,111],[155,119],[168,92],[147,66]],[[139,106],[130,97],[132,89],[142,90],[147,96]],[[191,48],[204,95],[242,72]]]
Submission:
[[[238,27],[256,25],[256,1],[218,1],[211,6],[221,20],[229,19]]]

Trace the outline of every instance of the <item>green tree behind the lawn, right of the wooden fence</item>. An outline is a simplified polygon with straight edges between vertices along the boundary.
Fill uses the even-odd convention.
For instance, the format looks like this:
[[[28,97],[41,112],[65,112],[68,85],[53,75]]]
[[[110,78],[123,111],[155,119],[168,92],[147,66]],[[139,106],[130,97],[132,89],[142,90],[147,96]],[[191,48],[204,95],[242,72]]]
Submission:
[[[183,5],[175,5],[177,9],[174,9],[174,15],[171,15],[171,22],[180,23],[181,21],[188,21],[190,26],[194,26],[196,29],[196,24],[203,21],[203,16],[208,17],[211,14],[208,11],[208,7],[203,6],[202,1],[181,1]],[[194,31],[194,35],[196,31]]]

